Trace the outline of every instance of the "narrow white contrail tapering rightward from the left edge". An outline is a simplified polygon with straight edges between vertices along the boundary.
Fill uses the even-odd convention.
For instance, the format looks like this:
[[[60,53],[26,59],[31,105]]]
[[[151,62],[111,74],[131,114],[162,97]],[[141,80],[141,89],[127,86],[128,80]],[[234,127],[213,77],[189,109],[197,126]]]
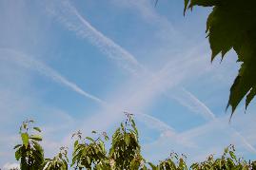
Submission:
[[[38,71],[40,74],[49,77],[52,81],[60,85],[65,85],[69,87],[69,89],[71,89],[72,91],[75,91],[80,95],[85,96],[98,104],[105,104],[104,101],[84,91],[81,87],[70,82],[68,79],[60,75],[54,69],[50,68],[49,66],[46,66],[45,64],[39,61],[32,59],[32,57],[26,54],[7,48],[0,48],[0,54],[0,59],[2,60],[11,61],[18,65],[34,69]]]

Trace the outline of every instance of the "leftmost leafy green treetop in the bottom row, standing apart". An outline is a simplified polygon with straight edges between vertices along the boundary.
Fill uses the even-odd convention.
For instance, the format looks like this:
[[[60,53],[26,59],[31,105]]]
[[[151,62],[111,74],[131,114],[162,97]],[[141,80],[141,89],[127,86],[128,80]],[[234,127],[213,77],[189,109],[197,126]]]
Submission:
[[[25,121],[20,126],[20,136],[22,143],[14,146],[16,149],[15,158],[20,161],[21,169],[38,170],[44,161],[44,151],[38,143],[42,141],[41,130],[38,127],[31,127],[33,121]],[[36,132],[36,133],[35,133]]]

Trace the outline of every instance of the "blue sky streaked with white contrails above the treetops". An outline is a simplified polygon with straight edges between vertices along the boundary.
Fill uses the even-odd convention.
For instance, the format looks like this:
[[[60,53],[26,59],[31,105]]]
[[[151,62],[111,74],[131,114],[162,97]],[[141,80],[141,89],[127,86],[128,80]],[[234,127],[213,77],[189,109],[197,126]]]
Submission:
[[[148,161],[175,151],[187,161],[219,156],[229,144],[256,159],[255,101],[229,123],[234,51],[210,63],[211,9],[183,15],[161,0],[0,1],[0,168],[15,166],[13,146],[27,119],[43,130],[46,157],[71,134],[108,135],[134,114]]]

